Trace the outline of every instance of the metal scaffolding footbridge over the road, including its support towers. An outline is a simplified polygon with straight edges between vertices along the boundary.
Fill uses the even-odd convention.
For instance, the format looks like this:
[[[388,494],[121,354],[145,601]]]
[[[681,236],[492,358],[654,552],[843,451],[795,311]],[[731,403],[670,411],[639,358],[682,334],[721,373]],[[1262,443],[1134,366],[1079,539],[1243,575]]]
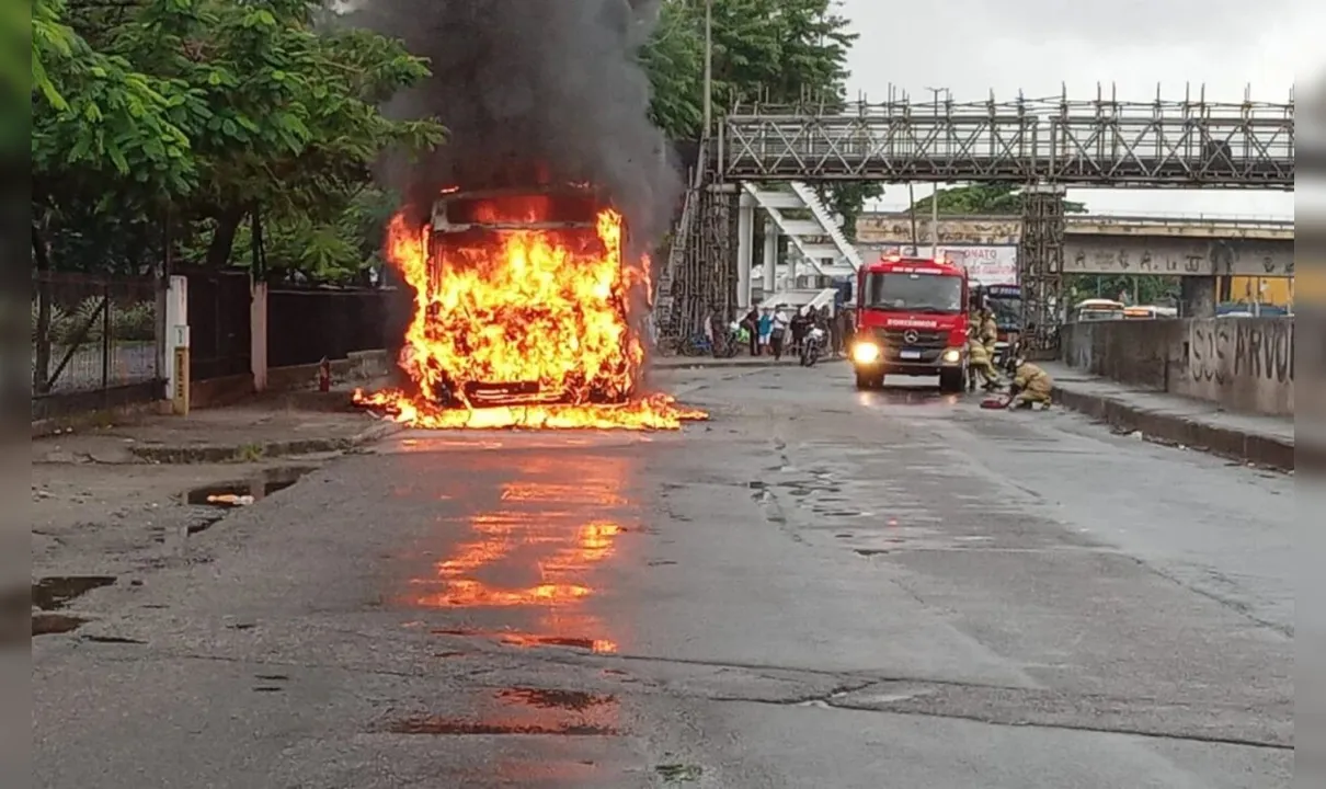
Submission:
[[[939,94],[936,94],[939,95]],[[711,143],[715,143],[711,145]],[[1323,149],[1326,150],[1326,149]],[[711,310],[736,305],[740,182],[997,182],[1026,191],[1018,249],[1024,325],[1037,355],[1058,346],[1063,301],[1063,191],[1294,188],[1294,98],[1212,102],[1053,99],[737,106],[705,141],[659,285],[660,335],[686,338]]]

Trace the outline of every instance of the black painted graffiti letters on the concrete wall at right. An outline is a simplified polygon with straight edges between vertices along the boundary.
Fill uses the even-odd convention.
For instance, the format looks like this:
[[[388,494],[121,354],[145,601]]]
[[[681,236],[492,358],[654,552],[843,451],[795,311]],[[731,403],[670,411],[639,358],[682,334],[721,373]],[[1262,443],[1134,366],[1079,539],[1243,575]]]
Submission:
[[[1293,383],[1294,322],[1193,321],[1188,329],[1188,374],[1196,383],[1216,386],[1237,379]]]

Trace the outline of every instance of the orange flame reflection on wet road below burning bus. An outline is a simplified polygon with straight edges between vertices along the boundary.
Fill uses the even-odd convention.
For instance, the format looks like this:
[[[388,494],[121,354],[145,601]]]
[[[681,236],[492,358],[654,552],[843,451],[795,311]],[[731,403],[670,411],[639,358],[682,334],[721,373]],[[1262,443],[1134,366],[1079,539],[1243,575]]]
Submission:
[[[623,516],[631,515],[625,491],[629,463],[541,452],[472,457],[472,471],[501,464],[514,479],[501,485],[495,509],[463,520],[461,541],[431,576],[411,582],[410,602],[497,613],[503,627],[491,635],[512,646],[575,644],[615,652],[617,640],[587,602],[599,591],[594,569],[613,557],[617,537],[626,530]],[[452,493],[460,501],[480,496],[483,491],[473,488]]]

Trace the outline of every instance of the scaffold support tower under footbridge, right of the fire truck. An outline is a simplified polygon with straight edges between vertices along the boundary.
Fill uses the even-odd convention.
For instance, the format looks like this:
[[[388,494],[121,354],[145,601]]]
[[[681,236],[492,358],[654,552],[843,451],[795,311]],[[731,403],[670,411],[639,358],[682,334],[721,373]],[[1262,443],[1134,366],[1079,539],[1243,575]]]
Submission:
[[[1063,187],[1032,186],[1022,195],[1017,277],[1022,289],[1022,347],[1053,358],[1067,309],[1063,301]]]

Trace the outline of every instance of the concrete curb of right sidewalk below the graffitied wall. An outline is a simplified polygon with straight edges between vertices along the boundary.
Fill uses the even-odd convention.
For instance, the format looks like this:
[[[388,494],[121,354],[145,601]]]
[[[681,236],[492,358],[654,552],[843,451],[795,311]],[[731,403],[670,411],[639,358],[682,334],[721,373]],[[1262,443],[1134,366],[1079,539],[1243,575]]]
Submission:
[[[1130,406],[1118,399],[1054,387],[1054,400],[1114,427],[1280,471],[1294,471],[1294,444],[1235,427]],[[1305,459],[1306,460],[1306,459]]]

